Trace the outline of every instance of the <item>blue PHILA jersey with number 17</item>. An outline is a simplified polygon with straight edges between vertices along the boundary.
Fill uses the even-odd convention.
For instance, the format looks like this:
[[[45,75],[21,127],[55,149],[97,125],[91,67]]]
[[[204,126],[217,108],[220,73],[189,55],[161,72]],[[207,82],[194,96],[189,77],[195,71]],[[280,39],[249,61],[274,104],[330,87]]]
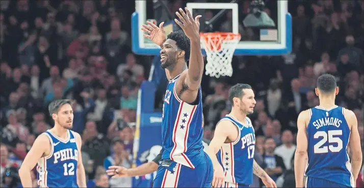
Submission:
[[[235,142],[224,143],[217,153],[218,161],[225,173],[225,186],[250,185],[253,183],[254,128],[248,117],[247,124],[230,115],[226,115],[220,121],[223,120],[231,121],[239,129],[238,139]]]

